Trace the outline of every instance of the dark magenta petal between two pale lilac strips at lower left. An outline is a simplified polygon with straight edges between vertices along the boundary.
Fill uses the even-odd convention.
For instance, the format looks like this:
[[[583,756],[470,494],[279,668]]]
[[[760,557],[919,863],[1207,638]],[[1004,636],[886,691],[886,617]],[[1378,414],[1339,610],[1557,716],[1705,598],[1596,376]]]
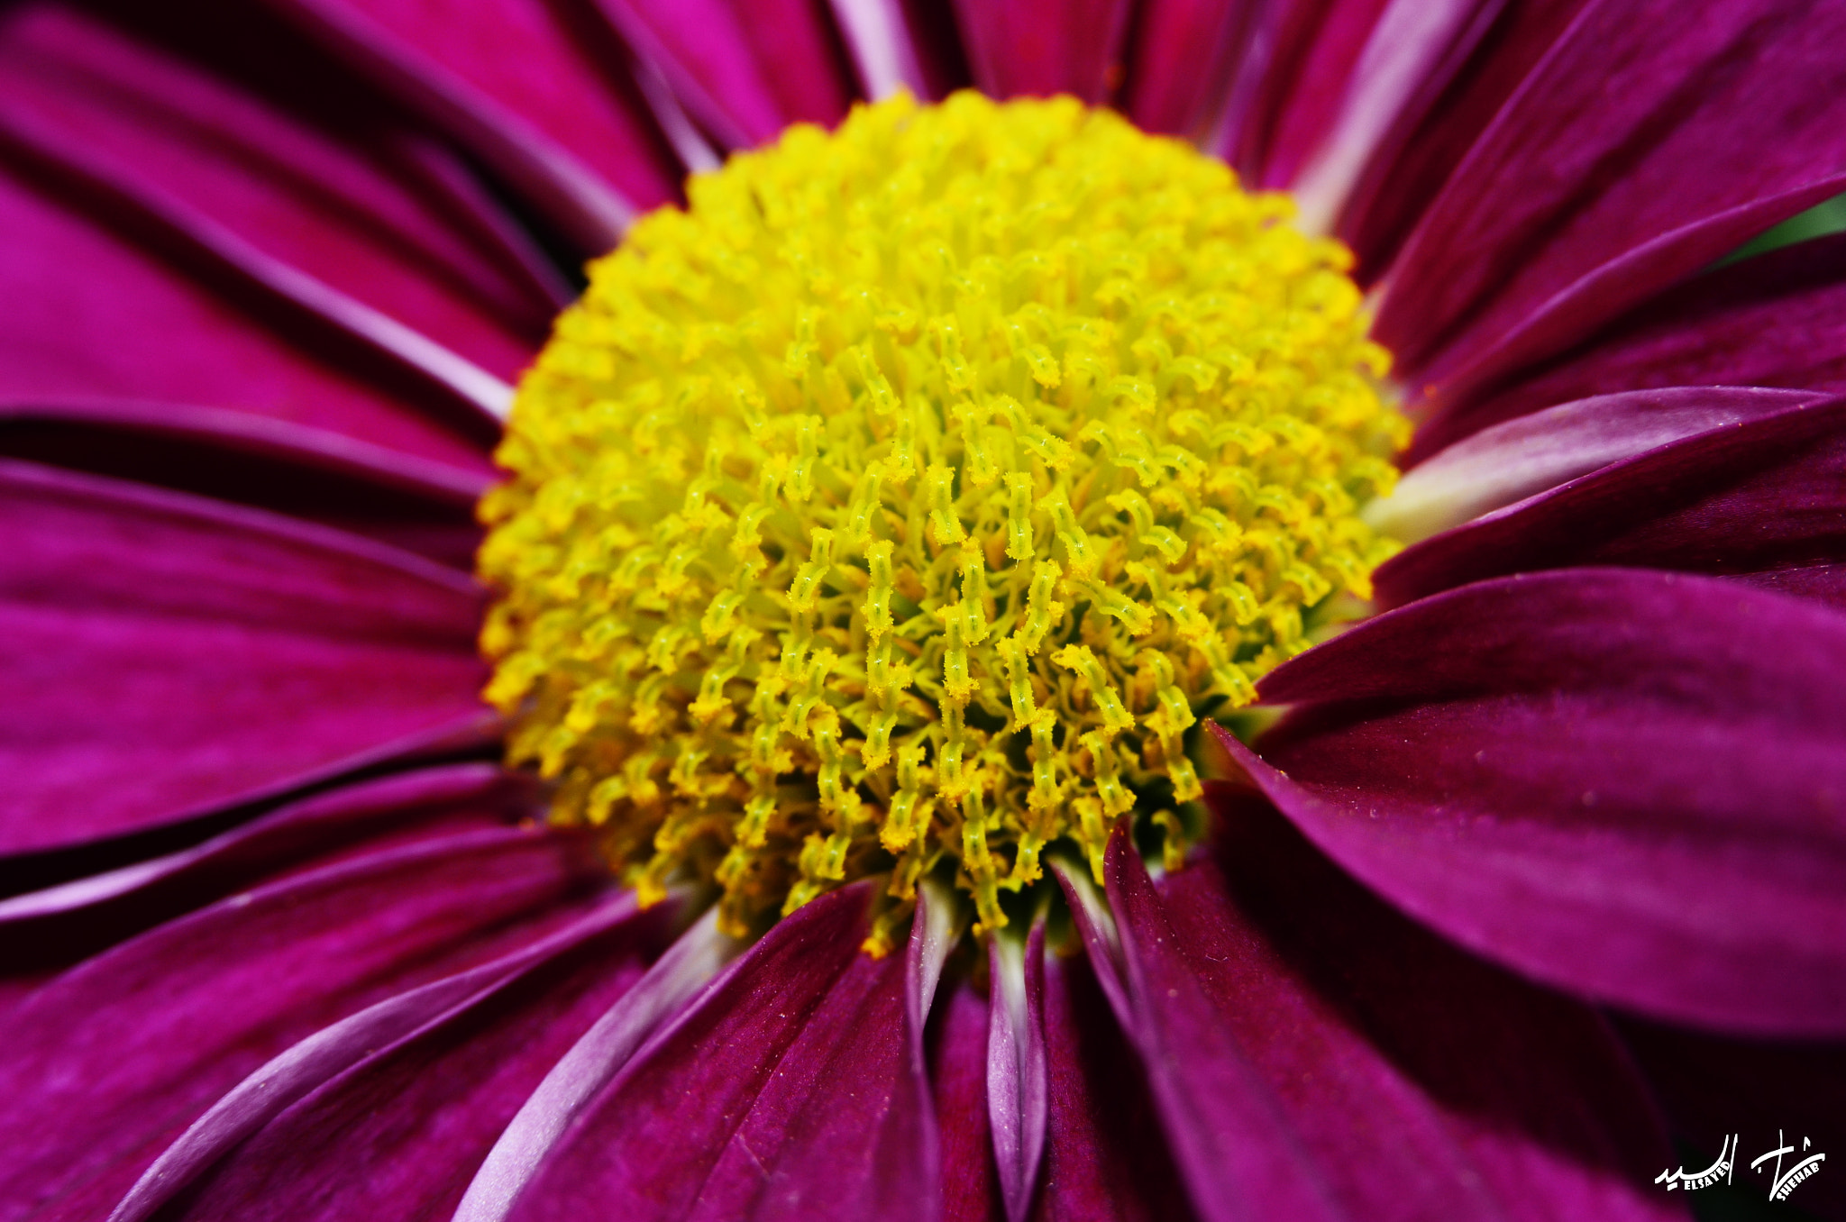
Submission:
[[[447,1218],[537,1082],[642,975],[666,916],[637,916],[624,895],[524,962],[502,960],[485,989],[373,1041],[377,1052],[281,1111],[162,1216],[244,1218],[262,1202],[288,1218]]]

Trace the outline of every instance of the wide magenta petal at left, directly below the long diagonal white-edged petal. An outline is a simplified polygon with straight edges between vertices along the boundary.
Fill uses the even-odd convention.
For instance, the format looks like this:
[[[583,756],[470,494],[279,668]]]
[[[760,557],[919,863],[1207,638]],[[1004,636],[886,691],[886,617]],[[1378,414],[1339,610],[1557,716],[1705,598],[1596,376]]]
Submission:
[[[0,172],[0,397],[196,402],[279,415],[484,469],[484,434],[452,397],[225,295]],[[360,360],[364,358],[364,360]],[[369,364],[367,364],[369,362]],[[393,380],[395,378],[395,380]],[[402,391],[402,393],[399,393]],[[467,432],[473,428],[474,432]],[[476,437],[476,439],[471,439]]]

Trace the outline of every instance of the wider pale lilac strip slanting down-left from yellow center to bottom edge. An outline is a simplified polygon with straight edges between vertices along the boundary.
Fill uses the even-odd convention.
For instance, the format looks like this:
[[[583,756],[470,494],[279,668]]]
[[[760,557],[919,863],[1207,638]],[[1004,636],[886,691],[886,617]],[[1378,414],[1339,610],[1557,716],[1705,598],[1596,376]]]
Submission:
[[[620,1000],[596,1019],[530,1093],[485,1154],[454,1222],[498,1222],[513,1207],[545,1154],[576,1115],[663,1023],[670,1021],[735,954],[709,910],[648,969]]]

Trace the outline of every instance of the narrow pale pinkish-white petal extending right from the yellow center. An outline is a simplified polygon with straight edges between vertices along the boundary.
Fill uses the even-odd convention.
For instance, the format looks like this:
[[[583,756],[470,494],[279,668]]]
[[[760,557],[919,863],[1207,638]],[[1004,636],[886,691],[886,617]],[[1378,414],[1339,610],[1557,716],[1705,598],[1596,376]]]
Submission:
[[[1390,497],[1366,509],[1366,521],[1416,543],[1613,461],[1818,399],[1757,386],[1672,386],[1565,402],[1418,463]]]

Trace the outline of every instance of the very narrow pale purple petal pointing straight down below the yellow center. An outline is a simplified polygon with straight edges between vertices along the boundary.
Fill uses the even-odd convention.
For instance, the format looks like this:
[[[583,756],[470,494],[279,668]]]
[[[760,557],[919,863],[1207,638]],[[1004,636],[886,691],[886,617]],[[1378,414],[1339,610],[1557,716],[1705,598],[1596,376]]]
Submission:
[[[988,1115],[1008,1222],[1032,1209],[1045,1157],[1045,925],[988,940]]]

